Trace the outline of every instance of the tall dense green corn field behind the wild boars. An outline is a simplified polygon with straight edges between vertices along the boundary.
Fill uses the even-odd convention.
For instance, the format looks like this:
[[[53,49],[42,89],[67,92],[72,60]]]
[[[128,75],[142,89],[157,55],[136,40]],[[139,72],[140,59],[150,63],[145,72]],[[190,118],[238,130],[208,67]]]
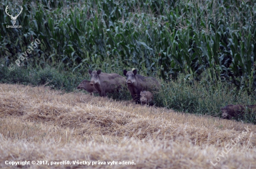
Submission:
[[[23,7],[22,28],[7,28],[7,6],[13,16]],[[137,68],[163,79],[208,71],[212,81],[256,89],[256,0],[2,0],[0,23],[6,64],[38,38],[25,66]]]

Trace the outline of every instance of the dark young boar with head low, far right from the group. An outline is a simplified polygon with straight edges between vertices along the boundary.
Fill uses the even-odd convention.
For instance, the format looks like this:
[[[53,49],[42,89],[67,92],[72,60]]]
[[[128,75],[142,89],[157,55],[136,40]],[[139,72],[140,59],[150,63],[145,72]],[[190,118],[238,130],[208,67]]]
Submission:
[[[239,114],[244,113],[244,106],[242,105],[227,105],[221,108],[222,118],[223,119],[231,119],[232,117],[236,117]]]

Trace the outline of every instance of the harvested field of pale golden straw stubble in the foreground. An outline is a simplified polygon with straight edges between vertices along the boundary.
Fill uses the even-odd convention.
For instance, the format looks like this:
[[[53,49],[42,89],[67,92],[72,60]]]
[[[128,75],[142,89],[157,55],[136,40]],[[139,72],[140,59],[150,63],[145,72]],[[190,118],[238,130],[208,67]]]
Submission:
[[[226,119],[0,84],[0,168],[255,169],[255,133]]]

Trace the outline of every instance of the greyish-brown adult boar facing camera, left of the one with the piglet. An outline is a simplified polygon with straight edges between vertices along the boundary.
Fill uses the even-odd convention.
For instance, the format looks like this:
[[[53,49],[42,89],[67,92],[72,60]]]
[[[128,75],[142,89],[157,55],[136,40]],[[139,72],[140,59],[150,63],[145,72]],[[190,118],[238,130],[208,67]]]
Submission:
[[[88,70],[91,75],[90,85],[94,86],[101,97],[107,96],[108,93],[119,91],[125,87],[125,78],[116,73],[101,73],[101,70]]]

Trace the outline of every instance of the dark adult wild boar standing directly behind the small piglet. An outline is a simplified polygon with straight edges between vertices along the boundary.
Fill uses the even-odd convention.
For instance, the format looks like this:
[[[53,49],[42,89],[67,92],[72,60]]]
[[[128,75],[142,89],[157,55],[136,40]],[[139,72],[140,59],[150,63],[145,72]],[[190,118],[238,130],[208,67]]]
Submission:
[[[160,88],[160,83],[153,77],[144,77],[137,74],[137,69],[133,71],[123,70],[127,77],[126,83],[130,94],[135,102],[140,102],[141,91],[155,91]]]

